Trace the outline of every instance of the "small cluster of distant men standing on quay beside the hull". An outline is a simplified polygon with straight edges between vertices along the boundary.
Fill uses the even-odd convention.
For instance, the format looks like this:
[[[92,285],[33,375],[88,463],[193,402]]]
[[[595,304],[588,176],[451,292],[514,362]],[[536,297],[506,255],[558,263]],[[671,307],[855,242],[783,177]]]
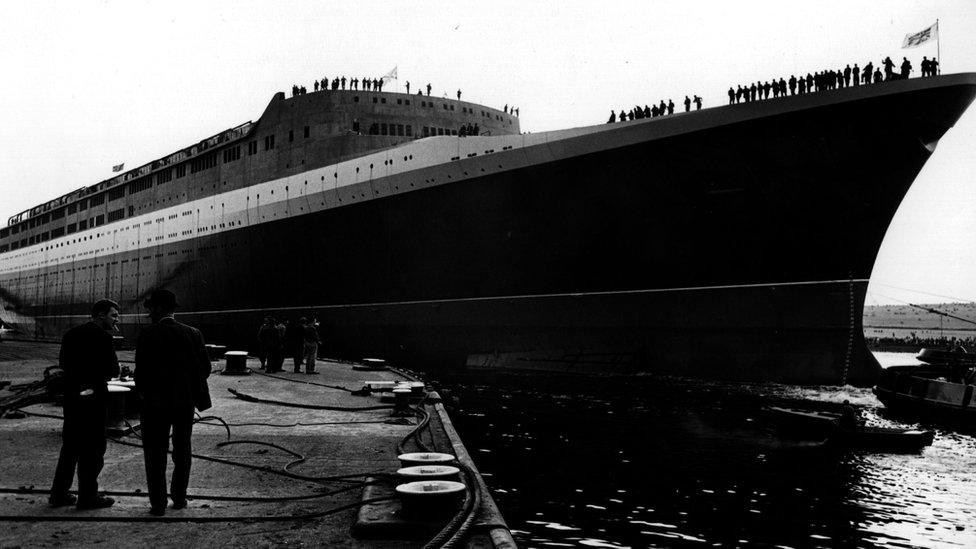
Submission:
[[[322,344],[318,326],[319,322],[314,317],[311,320],[302,317],[298,322],[289,320],[287,325],[274,317],[265,317],[264,324],[258,328],[261,369],[269,374],[282,372],[285,358],[290,357],[294,361],[296,374],[301,373],[303,363],[306,374],[317,374],[315,360]]]

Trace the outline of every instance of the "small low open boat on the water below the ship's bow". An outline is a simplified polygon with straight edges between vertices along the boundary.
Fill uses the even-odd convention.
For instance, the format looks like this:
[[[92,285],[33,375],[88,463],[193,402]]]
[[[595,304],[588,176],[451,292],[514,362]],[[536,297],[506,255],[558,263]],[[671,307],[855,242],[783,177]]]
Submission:
[[[789,436],[822,440],[825,445],[845,450],[874,452],[917,452],[932,444],[935,433],[919,429],[864,427],[841,429],[840,414],[770,406],[767,411]]]

